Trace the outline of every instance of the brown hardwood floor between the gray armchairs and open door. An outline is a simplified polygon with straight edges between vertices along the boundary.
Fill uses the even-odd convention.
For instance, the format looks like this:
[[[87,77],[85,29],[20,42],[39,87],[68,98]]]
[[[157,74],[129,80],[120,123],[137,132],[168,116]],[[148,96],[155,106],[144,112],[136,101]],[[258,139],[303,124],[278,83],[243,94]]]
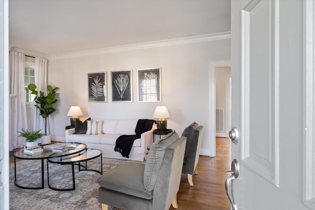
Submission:
[[[225,171],[231,169],[230,140],[216,138],[216,157],[200,156],[198,174],[192,176],[193,186],[187,175],[182,175],[177,193],[177,210],[230,210],[225,193]],[[170,210],[175,210],[172,206]]]

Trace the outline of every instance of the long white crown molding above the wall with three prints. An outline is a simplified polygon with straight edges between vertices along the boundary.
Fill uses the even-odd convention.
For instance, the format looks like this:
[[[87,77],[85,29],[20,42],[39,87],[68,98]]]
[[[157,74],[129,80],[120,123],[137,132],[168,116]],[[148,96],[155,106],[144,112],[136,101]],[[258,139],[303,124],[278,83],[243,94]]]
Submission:
[[[131,44],[131,45],[123,45],[123,46],[117,46],[117,47],[108,47],[108,48],[101,48],[101,49],[95,49],[95,50],[51,55],[51,56],[46,56],[46,58],[48,60],[66,59],[66,58],[75,58],[75,57],[82,57],[82,56],[93,56],[93,55],[98,55],[98,54],[117,53],[117,52],[124,52],[124,51],[130,51],[130,50],[142,50],[142,49],[155,48],[155,47],[165,47],[165,46],[172,46],[172,45],[178,45],[178,44],[207,42],[207,41],[230,39],[230,38],[231,38],[231,31],[226,31],[226,32],[221,32],[221,33],[212,33],[212,34],[206,34],[206,35],[200,35],[200,36],[167,39],[167,40],[162,40],[162,41],[145,42],[145,43],[139,43],[139,44]]]

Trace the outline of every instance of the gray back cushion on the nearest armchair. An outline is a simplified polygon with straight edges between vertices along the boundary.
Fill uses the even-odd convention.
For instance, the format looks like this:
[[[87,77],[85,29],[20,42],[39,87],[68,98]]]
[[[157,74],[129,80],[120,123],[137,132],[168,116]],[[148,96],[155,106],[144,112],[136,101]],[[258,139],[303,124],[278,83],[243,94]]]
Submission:
[[[177,139],[179,139],[179,135],[173,131],[151,145],[143,176],[144,187],[147,191],[154,189],[158,178],[158,171],[164,158],[165,149],[173,144]]]

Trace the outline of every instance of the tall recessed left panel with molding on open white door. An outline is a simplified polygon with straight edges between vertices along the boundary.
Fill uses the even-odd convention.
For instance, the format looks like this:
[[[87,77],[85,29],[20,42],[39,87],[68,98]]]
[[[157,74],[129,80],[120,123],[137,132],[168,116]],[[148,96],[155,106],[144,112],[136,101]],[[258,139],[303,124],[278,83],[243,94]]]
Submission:
[[[242,160],[277,186],[278,14],[278,1],[251,1],[242,10]]]

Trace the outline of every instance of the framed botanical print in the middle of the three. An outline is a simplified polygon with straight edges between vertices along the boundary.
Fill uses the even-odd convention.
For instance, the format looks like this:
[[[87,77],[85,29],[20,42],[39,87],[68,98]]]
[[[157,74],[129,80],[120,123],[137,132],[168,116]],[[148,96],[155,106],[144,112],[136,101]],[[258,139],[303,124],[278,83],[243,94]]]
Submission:
[[[132,102],[132,71],[111,71],[112,102]]]

